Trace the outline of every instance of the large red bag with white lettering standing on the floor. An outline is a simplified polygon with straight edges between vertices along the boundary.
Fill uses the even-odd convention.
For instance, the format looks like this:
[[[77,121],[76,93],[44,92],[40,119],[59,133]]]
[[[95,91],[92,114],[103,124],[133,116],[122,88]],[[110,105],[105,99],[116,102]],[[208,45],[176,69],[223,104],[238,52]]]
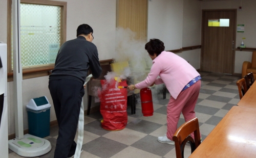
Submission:
[[[106,130],[121,130],[127,124],[127,89],[118,86],[127,86],[126,81],[117,82],[113,79],[109,83],[106,80],[100,82],[101,126]]]

